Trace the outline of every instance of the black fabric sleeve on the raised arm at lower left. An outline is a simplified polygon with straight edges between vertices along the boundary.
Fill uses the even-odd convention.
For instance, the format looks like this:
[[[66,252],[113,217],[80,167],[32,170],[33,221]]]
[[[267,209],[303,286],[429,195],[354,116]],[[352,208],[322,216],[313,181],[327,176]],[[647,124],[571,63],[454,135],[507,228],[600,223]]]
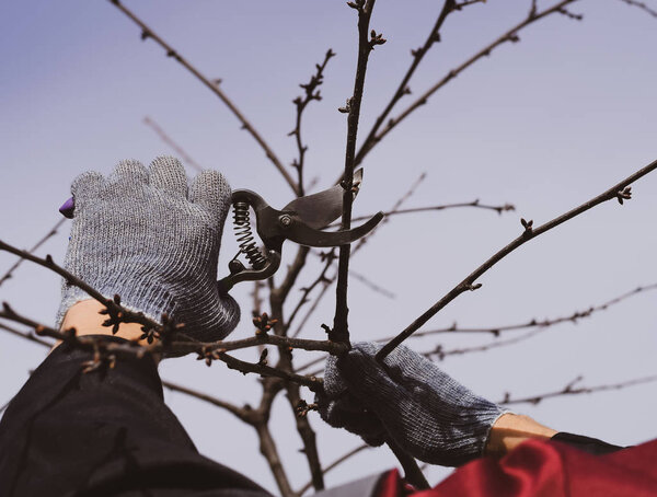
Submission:
[[[82,373],[90,359],[60,345],[7,408],[1,496],[269,496],[198,453],[164,405],[150,357]]]

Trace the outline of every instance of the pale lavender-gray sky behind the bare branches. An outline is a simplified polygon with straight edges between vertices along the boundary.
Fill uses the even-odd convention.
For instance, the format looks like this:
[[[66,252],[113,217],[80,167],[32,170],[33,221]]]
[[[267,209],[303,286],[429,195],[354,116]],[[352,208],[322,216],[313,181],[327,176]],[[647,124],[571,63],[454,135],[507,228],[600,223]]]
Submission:
[[[657,2],[647,0],[657,8]],[[127,1],[150,27],[221,88],[265,137],[284,163],[296,157],[288,137],[292,99],[330,47],[323,100],[303,118],[309,146],[307,177],[314,190],[328,186],[344,165],[345,116],[356,65],[355,11],[339,1],[220,2]],[[411,81],[415,95],[438,81],[528,12],[526,0],[488,0],[448,18]],[[540,1],[539,7],[552,2]],[[419,46],[439,4],[428,0],[379,0],[371,26],[388,39],[372,53],[362,102],[360,137],[390,100],[410,50]],[[570,8],[581,22],[553,15],[520,33],[452,80],[427,105],[393,130],[364,162],[357,215],[389,209],[422,173],[426,180],[408,207],[471,201],[516,211],[497,216],[454,209],[390,219],[353,257],[353,268],[394,299],[359,280],[349,286],[354,340],[394,335],[494,252],[516,238],[520,217],[545,222],[606,190],[657,159],[657,19],[619,0],[581,0]],[[24,0],[0,3],[0,239],[28,247],[59,219],[57,208],[83,171],[110,173],[122,159],[145,163],[174,153],[143,118],[155,120],[204,167],[221,171],[233,188],[258,192],[275,207],[292,193],[252,137],[226,106],[112,3],[103,0]],[[188,169],[191,175],[194,174]],[[290,172],[292,172],[290,167]],[[563,316],[600,304],[637,286],[657,282],[655,212],[657,177],[633,185],[623,206],[603,204],[514,252],[425,330],[500,326],[532,317]],[[37,253],[61,261],[69,224]],[[223,236],[220,274],[235,251]],[[289,258],[295,250],[284,247]],[[286,258],[286,259],[287,259]],[[15,258],[0,253],[0,273]],[[285,266],[285,261],[284,261]],[[314,278],[315,270],[299,282]],[[244,315],[251,288],[234,296]],[[295,296],[299,294],[295,290]],[[499,401],[581,384],[609,384],[657,373],[657,307],[646,291],[577,324],[545,330],[515,345],[450,356],[440,366],[475,392]],[[0,287],[0,300],[35,320],[53,323],[59,301],[56,275],[22,265]],[[650,303],[653,302],[653,304]],[[302,336],[321,338],[333,317],[333,290]],[[289,310],[288,310],[289,312]],[[234,338],[253,333],[242,320]],[[502,338],[511,337],[504,335]],[[489,336],[434,336],[408,345],[428,350],[494,343]],[[254,351],[241,357],[256,359]],[[0,404],[14,395],[45,350],[0,334]],[[310,356],[309,356],[310,357]],[[312,356],[315,357],[315,356]],[[221,365],[193,357],[166,360],[164,379],[242,404],[257,402],[260,386]],[[309,401],[312,396],[304,392]],[[545,400],[515,407],[558,430],[635,444],[655,437],[655,384],[591,395]],[[199,450],[275,492],[255,434],[231,415],[178,393],[166,401]],[[321,459],[328,463],[360,442],[311,414]],[[309,479],[290,409],[275,404],[272,426],[299,488]],[[385,449],[362,452],[328,473],[328,485],[391,467]],[[438,482],[449,470],[430,467]]]

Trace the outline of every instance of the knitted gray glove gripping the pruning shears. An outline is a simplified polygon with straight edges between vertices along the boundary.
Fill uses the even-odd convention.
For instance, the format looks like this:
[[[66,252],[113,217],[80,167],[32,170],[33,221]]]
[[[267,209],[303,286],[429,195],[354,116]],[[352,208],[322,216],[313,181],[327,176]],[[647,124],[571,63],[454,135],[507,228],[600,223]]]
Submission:
[[[120,162],[103,177],[71,185],[73,224],[65,267],[103,296],[161,322],[166,313],[185,335],[217,340],[240,320],[240,308],[217,289],[217,261],[231,190],[217,171],[196,176],[189,190],[177,159],[157,158],[146,169]],[[89,296],[66,281],[57,323]]]

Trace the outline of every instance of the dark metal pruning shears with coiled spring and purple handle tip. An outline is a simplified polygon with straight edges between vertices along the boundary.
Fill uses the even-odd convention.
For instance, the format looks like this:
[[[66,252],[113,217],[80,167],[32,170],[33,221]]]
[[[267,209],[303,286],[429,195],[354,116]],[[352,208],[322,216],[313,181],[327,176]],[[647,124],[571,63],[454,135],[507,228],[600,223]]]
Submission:
[[[362,170],[354,173],[353,195],[356,196],[362,182]],[[369,233],[383,219],[383,212],[372,216],[367,222],[350,230],[323,231],[342,216],[344,188],[333,186],[316,194],[298,197],[283,209],[270,207],[263,197],[249,189],[232,193],[233,224],[239,252],[228,264],[230,275],[218,281],[221,291],[230,290],[241,281],[267,279],[280,266],[283,243],[290,240],[299,245],[328,247],[347,245]],[[59,211],[67,218],[73,217],[74,199],[69,198]],[[264,250],[255,242],[250,211],[255,213],[255,228]],[[250,267],[238,257],[243,254]]]

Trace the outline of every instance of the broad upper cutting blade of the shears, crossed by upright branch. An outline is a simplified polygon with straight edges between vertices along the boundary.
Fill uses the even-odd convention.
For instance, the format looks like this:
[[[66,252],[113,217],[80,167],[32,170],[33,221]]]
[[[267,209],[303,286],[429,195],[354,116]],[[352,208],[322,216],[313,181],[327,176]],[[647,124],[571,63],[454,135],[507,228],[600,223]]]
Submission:
[[[354,173],[354,198],[361,183],[362,167]],[[344,193],[341,185],[335,185],[316,194],[295,198],[283,210],[297,213],[307,226],[321,230],[342,216]]]

